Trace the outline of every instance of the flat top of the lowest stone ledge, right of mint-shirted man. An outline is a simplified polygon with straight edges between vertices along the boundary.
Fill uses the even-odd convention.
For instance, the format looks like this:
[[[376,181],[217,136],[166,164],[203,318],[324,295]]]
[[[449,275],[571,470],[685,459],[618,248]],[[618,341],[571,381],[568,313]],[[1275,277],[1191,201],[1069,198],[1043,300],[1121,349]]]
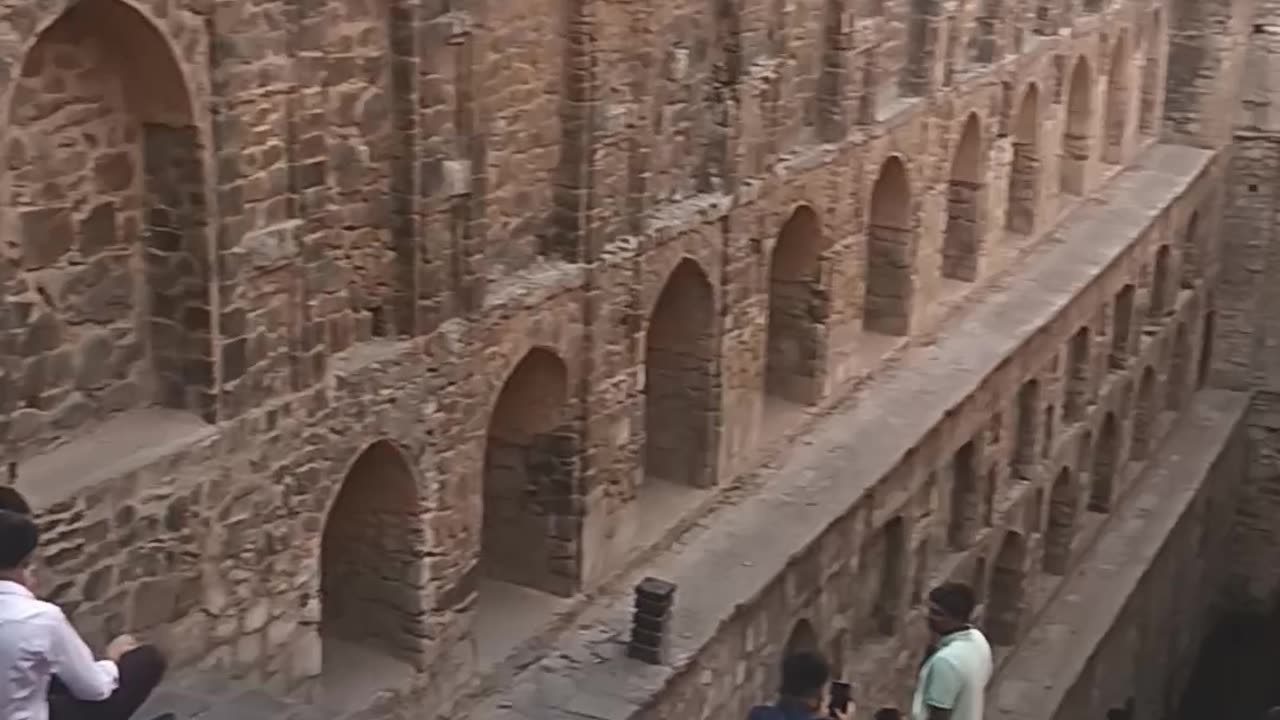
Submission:
[[[1115,625],[1210,470],[1240,429],[1249,397],[1202,391],[1139,486],[1060,588],[989,689],[992,717],[1051,719]],[[1100,587],[1107,592],[1098,592]],[[1052,652],[1046,648],[1052,647]]]

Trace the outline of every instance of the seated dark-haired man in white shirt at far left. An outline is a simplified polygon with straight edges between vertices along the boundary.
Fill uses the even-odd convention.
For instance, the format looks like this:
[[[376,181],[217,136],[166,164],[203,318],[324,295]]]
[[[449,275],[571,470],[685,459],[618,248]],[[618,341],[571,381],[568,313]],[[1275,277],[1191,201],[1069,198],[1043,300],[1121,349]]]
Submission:
[[[164,676],[164,659],[125,635],[93,660],[67,615],[32,592],[38,544],[29,516],[0,510],[0,717],[128,720]]]

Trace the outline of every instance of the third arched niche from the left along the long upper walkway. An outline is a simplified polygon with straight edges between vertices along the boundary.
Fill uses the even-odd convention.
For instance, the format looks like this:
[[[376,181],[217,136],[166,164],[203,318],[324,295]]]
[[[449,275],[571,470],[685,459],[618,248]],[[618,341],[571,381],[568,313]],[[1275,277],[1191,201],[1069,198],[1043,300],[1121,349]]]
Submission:
[[[645,333],[648,479],[716,483],[714,301],[707,274],[681,260],[658,296]]]

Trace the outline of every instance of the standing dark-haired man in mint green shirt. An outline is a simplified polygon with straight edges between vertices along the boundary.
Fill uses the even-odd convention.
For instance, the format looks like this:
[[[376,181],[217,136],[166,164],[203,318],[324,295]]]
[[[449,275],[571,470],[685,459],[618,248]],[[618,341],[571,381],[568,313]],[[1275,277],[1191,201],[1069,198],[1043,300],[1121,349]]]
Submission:
[[[969,624],[975,602],[964,583],[945,583],[929,593],[929,629],[938,639],[920,667],[911,720],[982,720],[991,644]]]

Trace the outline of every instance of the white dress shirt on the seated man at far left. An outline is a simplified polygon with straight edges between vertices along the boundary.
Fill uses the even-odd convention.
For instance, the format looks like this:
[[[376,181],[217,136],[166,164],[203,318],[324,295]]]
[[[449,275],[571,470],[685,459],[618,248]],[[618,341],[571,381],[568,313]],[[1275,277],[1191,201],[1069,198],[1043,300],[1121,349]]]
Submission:
[[[79,700],[106,700],[120,682],[110,660],[93,660],[61,609],[0,580],[0,717],[47,720],[49,679]]]

